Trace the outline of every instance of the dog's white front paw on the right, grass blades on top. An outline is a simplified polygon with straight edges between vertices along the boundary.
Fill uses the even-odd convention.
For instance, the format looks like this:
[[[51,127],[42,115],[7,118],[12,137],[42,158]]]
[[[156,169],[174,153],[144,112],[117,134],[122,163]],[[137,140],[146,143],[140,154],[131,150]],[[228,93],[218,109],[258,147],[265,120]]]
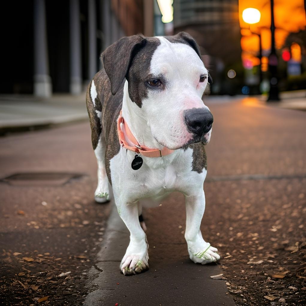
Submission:
[[[200,247],[196,246],[189,247],[188,253],[190,259],[194,263],[201,263],[202,265],[206,263],[216,262],[220,259],[220,255],[218,254],[218,249],[212,247],[207,242]]]

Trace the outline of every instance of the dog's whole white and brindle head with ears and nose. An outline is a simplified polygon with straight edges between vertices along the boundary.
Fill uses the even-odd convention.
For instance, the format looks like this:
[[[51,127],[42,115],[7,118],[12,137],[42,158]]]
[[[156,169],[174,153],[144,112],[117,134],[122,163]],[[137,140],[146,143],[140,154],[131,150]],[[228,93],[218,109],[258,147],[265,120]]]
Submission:
[[[123,37],[102,59],[112,94],[126,78],[134,110],[159,144],[178,149],[209,142],[213,116],[202,95],[212,80],[189,34]]]

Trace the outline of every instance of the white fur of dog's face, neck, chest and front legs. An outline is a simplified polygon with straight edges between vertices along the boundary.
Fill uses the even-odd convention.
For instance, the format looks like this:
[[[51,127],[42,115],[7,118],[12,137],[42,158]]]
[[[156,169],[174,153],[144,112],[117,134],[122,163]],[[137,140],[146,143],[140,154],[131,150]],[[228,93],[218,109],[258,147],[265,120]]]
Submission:
[[[131,101],[126,81],[122,113],[140,144],[159,149],[165,144],[177,149],[192,137],[184,123],[184,110],[207,108],[201,99],[207,80],[199,83],[200,75],[207,75],[207,69],[188,45],[170,43],[162,37],[159,39],[161,44],[152,56],[151,73],[156,76],[163,73],[168,80],[167,88],[164,91],[149,91],[140,108]],[[211,132],[205,136],[208,141],[210,135]],[[100,150],[98,147],[96,150]],[[119,153],[110,160],[115,203],[131,234],[121,261],[121,271],[135,274],[148,267],[147,239],[138,222],[141,213],[139,201],[144,198],[159,199],[172,191],[180,191],[185,195],[185,238],[190,258],[202,264],[218,260],[218,250],[210,247],[200,232],[205,209],[203,182],[206,170],[203,169],[200,174],[192,171],[192,149],[176,150],[162,158],[143,156],[144,163],[136,171],[131,168],[134,157],[135,153],[121,147]],[[102,179],[101,174],[100,177]],[[99,186],[102,188],[103,184],[99,183]],[[205,254],[202,254],[204,251]]]

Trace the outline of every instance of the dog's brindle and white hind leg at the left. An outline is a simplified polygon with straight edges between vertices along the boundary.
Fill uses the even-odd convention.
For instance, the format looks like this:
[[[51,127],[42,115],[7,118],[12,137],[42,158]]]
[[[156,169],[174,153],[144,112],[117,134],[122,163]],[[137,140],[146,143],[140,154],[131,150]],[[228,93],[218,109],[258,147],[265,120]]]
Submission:
[[[91,127],[91,142],[98,163],[98,186],[95,191],[95,200],[104,203],[109,200],[108,179],[105,170],[105,138],[101,126],[102,104],[97,95],[94,80],[88,86],[86,106]]]

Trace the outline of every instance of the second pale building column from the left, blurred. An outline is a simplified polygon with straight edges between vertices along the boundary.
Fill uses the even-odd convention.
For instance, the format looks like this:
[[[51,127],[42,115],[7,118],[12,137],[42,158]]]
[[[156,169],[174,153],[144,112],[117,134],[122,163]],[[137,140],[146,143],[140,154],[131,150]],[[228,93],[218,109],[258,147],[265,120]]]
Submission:
[[[81,31],[79,0],[70,0],[70,93],[82,92]]]

